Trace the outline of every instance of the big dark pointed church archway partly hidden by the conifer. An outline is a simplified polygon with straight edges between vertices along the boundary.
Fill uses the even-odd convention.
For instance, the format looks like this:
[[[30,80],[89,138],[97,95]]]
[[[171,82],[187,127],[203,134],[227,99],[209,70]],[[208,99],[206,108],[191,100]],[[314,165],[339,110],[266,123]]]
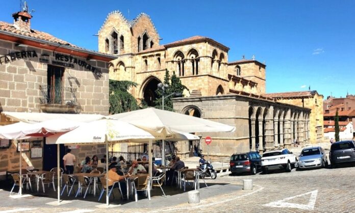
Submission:
[[[150,75],[143,81],[141,86],[142,99],[146,102],[149,107],[154,107],[156,104],[154,101],[157,98],[158,84],[162,83],[160,79],[156,76]]]

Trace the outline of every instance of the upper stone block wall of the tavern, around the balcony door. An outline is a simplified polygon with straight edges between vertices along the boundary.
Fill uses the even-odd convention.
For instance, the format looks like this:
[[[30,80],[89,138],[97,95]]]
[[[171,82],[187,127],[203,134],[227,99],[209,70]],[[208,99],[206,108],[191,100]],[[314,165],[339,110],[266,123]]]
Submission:
[[[47,63],[41,63],[40,60],[48,60],[49,64],[58,60],[53,56],[52,51],[30,46],[17,47],[13,42],[0,40],[0,57],[23,51],[35,51],[37,57],[23,56],[20,57],[21,59],[14,58],[8,63],[5,63],[3,58],[0,64],[0,111],[40,112],[40,98],[43,97],[40,86],[47,85]],[[107,115],[109,112],[108,63],[75,58],[96,67],[102,71],[102,76],[98,77],[92,71],[74,64],[73,68],[65,68],[63,86],[77,90],[75,95],[80,112]]]

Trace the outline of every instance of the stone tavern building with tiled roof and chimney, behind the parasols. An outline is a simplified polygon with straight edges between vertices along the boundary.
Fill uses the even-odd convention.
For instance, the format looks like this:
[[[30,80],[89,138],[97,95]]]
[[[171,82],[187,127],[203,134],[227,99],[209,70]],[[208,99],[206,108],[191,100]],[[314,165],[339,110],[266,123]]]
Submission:
[[[109,62],[116,57],[87,50],[31,28],[32,15],[14,13],[13,23],[0,21],[0,112],[90,113],[109,111]],[[0,125],[13,121],[4,115]],[[0,173],[18,170],[19,152],[2,140]],[[42,157],[31,158],[41,147]],[[51,169],[57,146],[32,140],[22,158],[25,165]],[[104,153],[105,146],[73,150],[79,159]],[[61,155],[64,154],[64,146]]]

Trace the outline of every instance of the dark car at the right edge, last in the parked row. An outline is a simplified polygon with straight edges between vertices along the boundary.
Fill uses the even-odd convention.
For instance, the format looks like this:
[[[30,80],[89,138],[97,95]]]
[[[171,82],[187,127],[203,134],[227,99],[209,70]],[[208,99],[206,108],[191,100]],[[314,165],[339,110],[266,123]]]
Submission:
[[[355,144],[354,141],[339,141],[331,146],[329,151],[329,160],[332,168],[340,163],[355,162]]]

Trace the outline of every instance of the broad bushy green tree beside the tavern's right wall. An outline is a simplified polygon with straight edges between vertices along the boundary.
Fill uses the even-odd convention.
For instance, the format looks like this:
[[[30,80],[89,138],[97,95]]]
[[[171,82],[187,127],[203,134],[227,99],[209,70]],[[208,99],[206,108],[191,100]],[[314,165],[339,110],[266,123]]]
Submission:
[[[144,103],[139,105],[136,98],[133,97],[128,89],[131,87],[137,87],[138,84],[130,81],[115,81],[110,79],[109,81],[109,102],[110,102],[110,114],[117,114],[123,112],[130,112],[144,108]]]

